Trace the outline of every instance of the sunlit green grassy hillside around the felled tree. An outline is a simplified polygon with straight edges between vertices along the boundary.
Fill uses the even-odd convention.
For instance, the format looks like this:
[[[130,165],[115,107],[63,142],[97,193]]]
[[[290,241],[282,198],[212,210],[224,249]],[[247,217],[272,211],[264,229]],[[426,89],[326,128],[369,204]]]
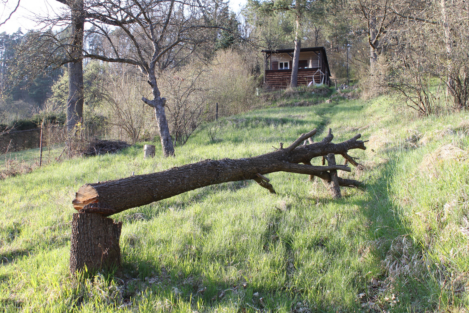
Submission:
[[[175,158],[144,160],[141,144],[0,181],[3,312],[468,310],[469,117],[396,116],[386,99],[288,107],[308,101],[297,97],[226,119],[222,140],[200,131]],[[366,191],[332,200],[291,173],[269,175],[278,195],[252,181],[201,188],[114,216],[120,272],[69,274],[84,183],[267,153],[315,127],[315,141],[329,127],[333,142],[370,139],[351,152],[363,169],[340,173]]]

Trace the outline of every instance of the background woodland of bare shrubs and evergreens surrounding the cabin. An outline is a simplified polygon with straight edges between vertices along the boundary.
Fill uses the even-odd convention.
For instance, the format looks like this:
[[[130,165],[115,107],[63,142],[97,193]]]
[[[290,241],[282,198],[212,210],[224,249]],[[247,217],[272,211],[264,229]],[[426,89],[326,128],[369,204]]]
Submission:
[[[45,28],[0,36],[2,129],[23,130],[44,121],[69,124],[74,118],[75,123],[91,122],[108,133],[124,134],[133,143],[158,136],[151,105],[141,101],[152,93],[150,80],[140,63],[122,61],[134,60],[151,44],[150,37],[142,36],[144,24],[136,23],[136,17],[118,21],[119,14],[106,15],[107,8],[98,2],[65,2],[69,12],[36,17]],[[164,21],[159,10],[171,3],[136,0],[128,6],[146,8],[158,31]],[[85,21],[81,46],[74,35],[77,4],[88,14],[80,17]],[[182,36],[176,21],[184,20],[177,13],[184,5],[196,8],[190,1],[171,7],[173,28],[161,33],[169,44],[160,47],[154,69],[157,89],[167,99],[174,144],[184,144],[199,125],[212,120],[215,103],[220,116],[265,106],[272,95],[256,95],[263,87],[262,49],[324,46],[332,81],[358,86],[363,98],[388,94],[396,111],[431,115],[468,106],[465,1],[249,0],[239,15],[230,11],[228,1],[207,2],[187,14],[192,18],[187,21],[204,27],[197,25],[197,31],[184,33],[186,39],[171,46],[171,40]],[[127,8],[114,9],[122,13]],[[132,43],[131,38],[138,40]],[[68,67],[74,64],[83,64],[79,99],[80,92],[69,90]]]

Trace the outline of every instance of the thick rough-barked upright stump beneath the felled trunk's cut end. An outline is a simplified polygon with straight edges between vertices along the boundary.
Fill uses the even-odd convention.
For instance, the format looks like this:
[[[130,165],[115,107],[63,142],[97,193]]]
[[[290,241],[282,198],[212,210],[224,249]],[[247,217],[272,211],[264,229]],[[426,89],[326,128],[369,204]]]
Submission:
[[[89,271],[121,265],[122,222],[101,213],[74,213],[70,238],[70,272]]]

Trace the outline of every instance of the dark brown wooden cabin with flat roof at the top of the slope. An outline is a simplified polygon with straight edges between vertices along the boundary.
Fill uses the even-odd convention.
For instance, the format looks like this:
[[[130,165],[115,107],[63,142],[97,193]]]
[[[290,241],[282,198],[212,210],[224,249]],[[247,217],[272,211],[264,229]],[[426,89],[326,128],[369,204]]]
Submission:
[[[294,49],[262,50],[264,54],[264,87],[286,88],[290,85]],[[298,62],[298,86],[311,82],[331,84],[331,70],[324,47],[301,48]]]

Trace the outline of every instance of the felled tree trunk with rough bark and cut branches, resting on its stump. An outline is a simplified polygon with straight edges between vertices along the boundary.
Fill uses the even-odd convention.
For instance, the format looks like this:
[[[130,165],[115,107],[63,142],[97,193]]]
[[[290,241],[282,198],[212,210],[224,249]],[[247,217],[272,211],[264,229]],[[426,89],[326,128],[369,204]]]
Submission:
[[[320,142],[298,147],[315,133],[316,130],[303,134],[287,148],[279,148],[274,152],[251,158],[204,160],[159,173],[85,184],[76,192],[73,205],[76,210],[81,210],[83,206],[89,204],[110,207],[113,209],[107,214],[110,215],[212,184],[246,179],[253,179],[258,183],[264,182],[257,174],[265,175],[279,171],[314,175],[330,181],[331,176],[327,171],[334,169],[351,171],[351,169],[344,165],[322,167],[298,163],[310,164],[312,158],[329,153],[345,154],[351,149],[366,149],[363,144],[365,141],[357,140],[361,137],[360,134],[340,144],[333,144],[331,143],[333,135],[330,132]],[[339,178],[338,183],[341,186],[361,186],[358,181]],[[260,184],[273,191],[270,183]]]

